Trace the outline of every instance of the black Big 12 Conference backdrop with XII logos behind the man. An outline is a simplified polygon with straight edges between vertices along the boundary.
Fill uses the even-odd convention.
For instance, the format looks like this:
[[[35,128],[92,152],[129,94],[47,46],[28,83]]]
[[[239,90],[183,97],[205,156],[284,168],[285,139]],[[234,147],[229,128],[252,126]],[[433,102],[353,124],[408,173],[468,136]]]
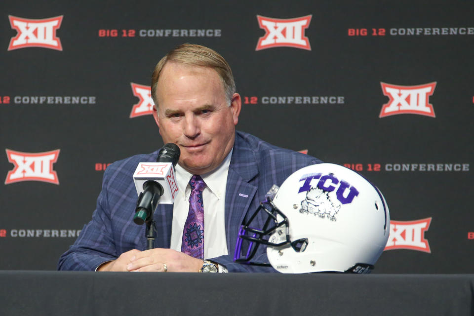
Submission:
[[[191,42],[233,68],[238,129],[348,164],[381,189],[394,231],[375,273],[472,273],[474,4],[355,2],[2,1],[0,269],[55,269],[107,164],[162,146],[153,118],[131,115],[147,106],[132,88]],[[298,30],[309,46],[288,46]],[[257,50],[261,37],[280,42]],[[53,49],[32,47],[44,38]],[[420,112],[427,103],[435,117]],[[396,115],[381,115],[385,104]],[[57,184],[45,182],[49,165]]]

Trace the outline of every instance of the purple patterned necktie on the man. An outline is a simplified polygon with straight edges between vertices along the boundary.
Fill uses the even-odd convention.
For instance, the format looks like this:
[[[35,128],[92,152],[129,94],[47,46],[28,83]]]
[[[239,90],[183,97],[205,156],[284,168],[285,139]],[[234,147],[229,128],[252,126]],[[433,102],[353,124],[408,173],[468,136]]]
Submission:
[[[204,258],[204,206],[202,190],[206,187],[201,176],[194,175],[189,180],[191,195],[189,196],[189,213],[184,224],[181,252],[192,257]]]

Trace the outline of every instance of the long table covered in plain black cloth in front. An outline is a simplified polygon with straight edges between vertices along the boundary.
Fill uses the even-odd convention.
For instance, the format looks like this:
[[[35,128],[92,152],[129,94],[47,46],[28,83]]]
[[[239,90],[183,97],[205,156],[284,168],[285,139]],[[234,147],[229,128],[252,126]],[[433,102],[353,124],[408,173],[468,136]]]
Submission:
[[[474,315],[474,275],[0,271],[1,315]]]

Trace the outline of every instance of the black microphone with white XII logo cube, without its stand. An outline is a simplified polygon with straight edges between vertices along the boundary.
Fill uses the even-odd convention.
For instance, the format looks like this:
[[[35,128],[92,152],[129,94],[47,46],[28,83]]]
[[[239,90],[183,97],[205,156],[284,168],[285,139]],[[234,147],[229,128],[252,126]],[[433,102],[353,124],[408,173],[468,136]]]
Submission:
[[[157,162],[140,162],[133,174],[138,193],[133,222],[142,225],[152,219],[158,204],[173,204],[178,192],[174,166],[179,160],[179,147],[168,143],[158,151]]]

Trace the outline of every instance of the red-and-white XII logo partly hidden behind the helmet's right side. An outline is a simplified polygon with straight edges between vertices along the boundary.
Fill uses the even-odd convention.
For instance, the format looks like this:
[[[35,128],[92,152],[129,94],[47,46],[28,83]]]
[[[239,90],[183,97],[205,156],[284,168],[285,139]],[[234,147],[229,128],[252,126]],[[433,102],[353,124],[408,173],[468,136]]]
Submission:
[[[425,232],[431,217],[417,221],[390,221],[390,236],[384,250],[409,249],[431,253]]]

